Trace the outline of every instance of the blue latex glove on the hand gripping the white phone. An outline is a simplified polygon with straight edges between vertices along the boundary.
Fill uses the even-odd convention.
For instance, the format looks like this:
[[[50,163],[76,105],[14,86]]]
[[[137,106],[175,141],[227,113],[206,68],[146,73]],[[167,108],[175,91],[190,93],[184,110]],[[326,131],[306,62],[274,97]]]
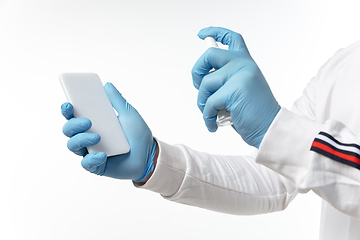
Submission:
[[[111,84],[104,86],[111,104],[119,113],[118,119],[130,145],[130,152],[107,157],[106,153],[88,153],[86,147],[97,144],[100,136],[85,131],[91,128],[91,122],[86,118],[74,118],[74,109],[70,103],[61,106],[63,116],[68,119],[63,127],[63,133],[70,137],[68,148],[77,155],[84,156],[82,166],[89,172],[118,179],[132,179],[135,182],[144,180],[154,169],[156,141],[142,119]]]

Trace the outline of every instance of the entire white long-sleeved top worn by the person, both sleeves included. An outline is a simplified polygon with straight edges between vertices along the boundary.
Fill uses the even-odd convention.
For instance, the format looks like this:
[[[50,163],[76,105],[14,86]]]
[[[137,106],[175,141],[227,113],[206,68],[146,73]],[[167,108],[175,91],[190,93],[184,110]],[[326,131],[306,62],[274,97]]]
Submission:
[[[316,145],[324,141],[330,148]],[[320,239],[360,239],[360,41],[322,66],[291,111],[280,110],[253,155],[158,143],[156,169],[141,188],[240,215],[283,210],[312,190],[323,199]]]

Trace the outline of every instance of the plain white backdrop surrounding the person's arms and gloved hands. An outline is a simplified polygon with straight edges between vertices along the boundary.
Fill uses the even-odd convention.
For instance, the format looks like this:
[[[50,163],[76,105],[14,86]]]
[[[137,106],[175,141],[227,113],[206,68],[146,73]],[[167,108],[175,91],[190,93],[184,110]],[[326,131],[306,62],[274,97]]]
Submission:
[[[221,2],[221,3],[220,3]],[[113,82],[162,141],[248,154],[231,129],[209,133],[190,75],[197,32],[239,32],[283,107],[334,52],[360,39],[357,0],[0,0],[1,239],[317,239],[320,199],[232,216],[92,175],[66,148],[62,72]]]

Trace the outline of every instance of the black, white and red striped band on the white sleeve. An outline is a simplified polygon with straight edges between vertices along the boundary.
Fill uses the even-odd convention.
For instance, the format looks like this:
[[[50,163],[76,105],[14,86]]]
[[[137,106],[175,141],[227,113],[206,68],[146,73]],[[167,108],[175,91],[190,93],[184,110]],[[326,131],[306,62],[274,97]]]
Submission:
[[[357,144],[341,143],[330,134],[320,132],[310,150],[360,170],[360,147]]]

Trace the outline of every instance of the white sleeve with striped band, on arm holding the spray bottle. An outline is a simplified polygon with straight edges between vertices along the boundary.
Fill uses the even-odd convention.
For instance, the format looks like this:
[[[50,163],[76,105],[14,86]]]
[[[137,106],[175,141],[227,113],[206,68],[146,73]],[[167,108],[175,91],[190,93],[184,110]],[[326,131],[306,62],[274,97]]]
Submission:
[[[339,92],[334,88],[340,86],[336,81],[346,77],[334,69],[350,66],[343,71],[348,73],[356,65],[347,64],[349,54],[352,52],[346,50],[335,54],[307,85],[292,111],[280,110],[261,143],[256,162],[290,179],[300,193],[312,190],[336,209],[360,219],[360,136],[331,118],[337,116],[334,104],[343,104],[337,107],[341,111],[348,104],[333,100]],[[359,80],[359,76],[352,77]],[[319,96],[327,101],[321,102]],[[354,118],[351,114],[347,117]]]

